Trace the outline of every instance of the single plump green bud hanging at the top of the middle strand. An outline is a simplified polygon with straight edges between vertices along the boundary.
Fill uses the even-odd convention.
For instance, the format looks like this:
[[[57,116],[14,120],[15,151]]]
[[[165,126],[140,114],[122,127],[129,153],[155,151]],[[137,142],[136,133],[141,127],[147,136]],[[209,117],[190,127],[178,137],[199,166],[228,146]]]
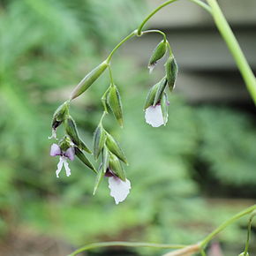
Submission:
[[[115,85],[111,85],[108,94],[108,104],[118,124],[123,127],[123,111],[120,94]]]

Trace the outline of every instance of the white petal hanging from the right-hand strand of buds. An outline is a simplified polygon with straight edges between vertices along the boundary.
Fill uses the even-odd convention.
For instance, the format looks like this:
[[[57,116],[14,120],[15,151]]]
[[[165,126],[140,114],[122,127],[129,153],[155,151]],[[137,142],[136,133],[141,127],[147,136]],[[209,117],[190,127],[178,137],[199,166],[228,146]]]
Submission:
[[[145,111],[145,119],[147,124],[150,124],[153,127],[159,127],[164,124],[161,105],[157,104],[148,107]]]

